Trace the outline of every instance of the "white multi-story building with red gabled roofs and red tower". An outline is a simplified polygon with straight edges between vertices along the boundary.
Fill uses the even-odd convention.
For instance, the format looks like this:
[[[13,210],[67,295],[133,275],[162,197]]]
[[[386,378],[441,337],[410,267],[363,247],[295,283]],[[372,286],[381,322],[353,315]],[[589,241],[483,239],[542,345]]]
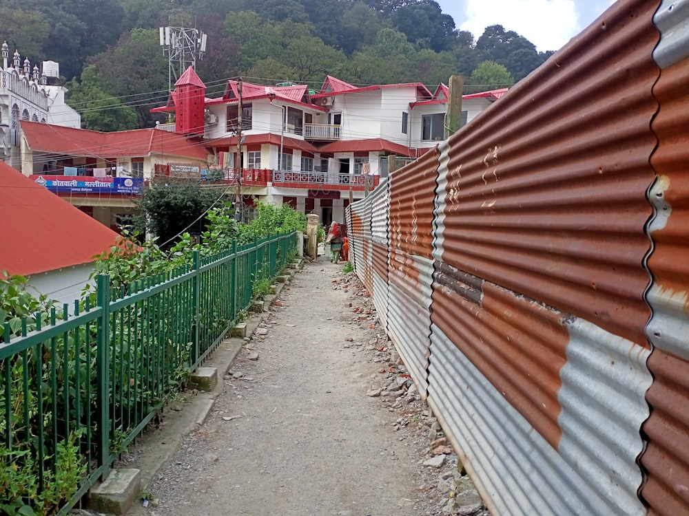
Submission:
[[[504,92],[463,96],[462,122]],[[435,92],[422,83],[356,87],[327,76],[320,92],[229,80],[222,97],[207,98],[189,67],[167,105],[153,111],[176,114],[175,124],[161,128],[204,138],[209,168],[236,182],[245,204],[256,197],[290,204],[329,223],[342,222],[349,200],[362,198],[389,170],[444,139],[448,95],[443,84]]]

